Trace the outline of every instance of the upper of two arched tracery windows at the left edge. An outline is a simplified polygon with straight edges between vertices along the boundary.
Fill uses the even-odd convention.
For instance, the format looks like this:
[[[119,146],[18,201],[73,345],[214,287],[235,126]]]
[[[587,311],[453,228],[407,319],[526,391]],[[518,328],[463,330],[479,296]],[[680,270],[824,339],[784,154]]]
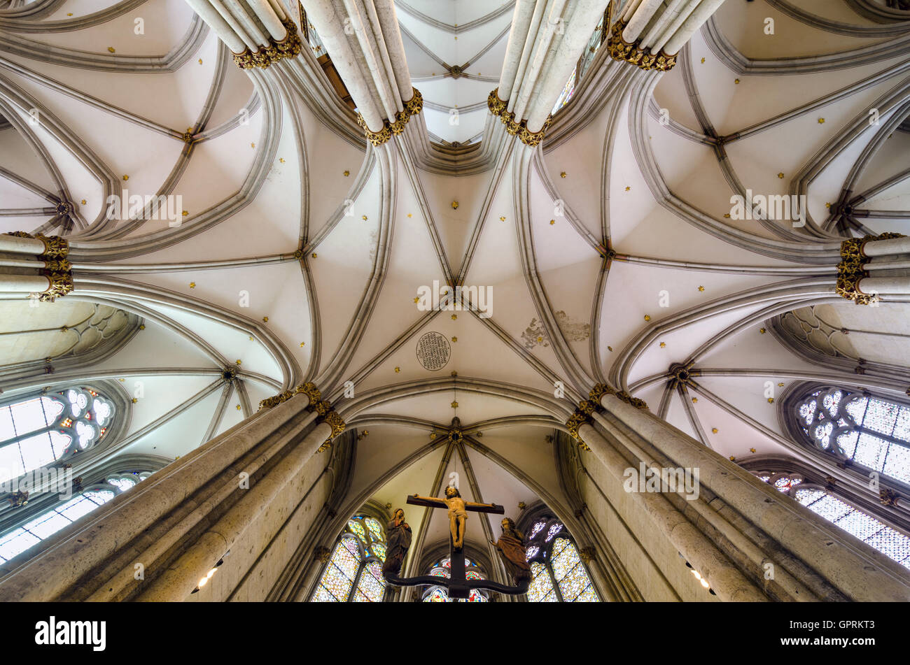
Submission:
[[[0,406],[0,482],[92,448],[115,416],[113,402],[77,386],[5,403]]]

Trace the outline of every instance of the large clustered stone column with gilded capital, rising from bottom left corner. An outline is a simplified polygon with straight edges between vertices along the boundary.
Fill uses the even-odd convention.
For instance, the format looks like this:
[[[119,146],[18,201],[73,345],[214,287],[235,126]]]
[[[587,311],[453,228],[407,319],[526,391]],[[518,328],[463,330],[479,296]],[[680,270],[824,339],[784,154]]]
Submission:
[[[291,481],[343,430],[311,383],[264,400],[246,421],[52,536],[36,556],[5,563],[0,601],[186,600],[232,547],[270,546],[248,536],[250,526],[279,492],[285,503],[302,499],[296,492],[306,488]],[[287,518],[273,515],[276,528]]]

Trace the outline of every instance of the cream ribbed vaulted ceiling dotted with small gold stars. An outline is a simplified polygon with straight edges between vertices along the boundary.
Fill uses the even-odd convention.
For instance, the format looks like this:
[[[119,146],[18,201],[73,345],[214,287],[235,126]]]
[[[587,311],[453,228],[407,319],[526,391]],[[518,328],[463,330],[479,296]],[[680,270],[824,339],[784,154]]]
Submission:
[[[397,3],[432,141],[501,131],[486,98],[511,5]],[[601,381],[737,461],[798,456],[765,383],[781,395],[831,372],[782,343],[800,326],[775,317],[823,318],[825,340],[848,330],[828,344],[844,356],[910,361],[905,303],[857,308],[833,293],[849,229],[910,218],[908,22],[856,5],[875,3],[729,0],[667,74],[602,49],[540,149],[505,144],[470,173],[421,168],[406,147],[378,155],[302,74],[239,71],[182,0],[0,6],[0,232],[66,234],[76,272],[76,291],[36,313],[7,298],[0,332],[97,312],[106,337],[141,320],[90,368],[141,392],[120,452],[173,459],[317,382],[369,431],[351,511],[439,491],[457,471],[466,499],[512,516],[542,500],[569,517],[547,437]],[[807,224],[728,217],[746,189],[804,194]],[[107,197],[126,190],[179,195],[179,224],[106,220]],[[419,309],[421,287],[453,277],[485,290],[489,317]],[[421,362],[430,332],[446,362]],[[62,337],[30,336],[0,345],[0,362],[23,348],[65,352]],[[694,383],[670,382],[690,363]],[[463,455],[438,441],[453,417],[476,444]],[[437,515],[425,542],[444,535]]]

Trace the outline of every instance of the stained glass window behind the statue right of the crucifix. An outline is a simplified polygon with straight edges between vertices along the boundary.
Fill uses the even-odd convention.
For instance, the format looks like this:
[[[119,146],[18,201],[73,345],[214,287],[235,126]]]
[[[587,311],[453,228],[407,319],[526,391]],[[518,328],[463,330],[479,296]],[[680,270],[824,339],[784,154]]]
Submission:
[[[575,541],[555,518],[535,520],[528,532],[531,602],[600,602]]]

